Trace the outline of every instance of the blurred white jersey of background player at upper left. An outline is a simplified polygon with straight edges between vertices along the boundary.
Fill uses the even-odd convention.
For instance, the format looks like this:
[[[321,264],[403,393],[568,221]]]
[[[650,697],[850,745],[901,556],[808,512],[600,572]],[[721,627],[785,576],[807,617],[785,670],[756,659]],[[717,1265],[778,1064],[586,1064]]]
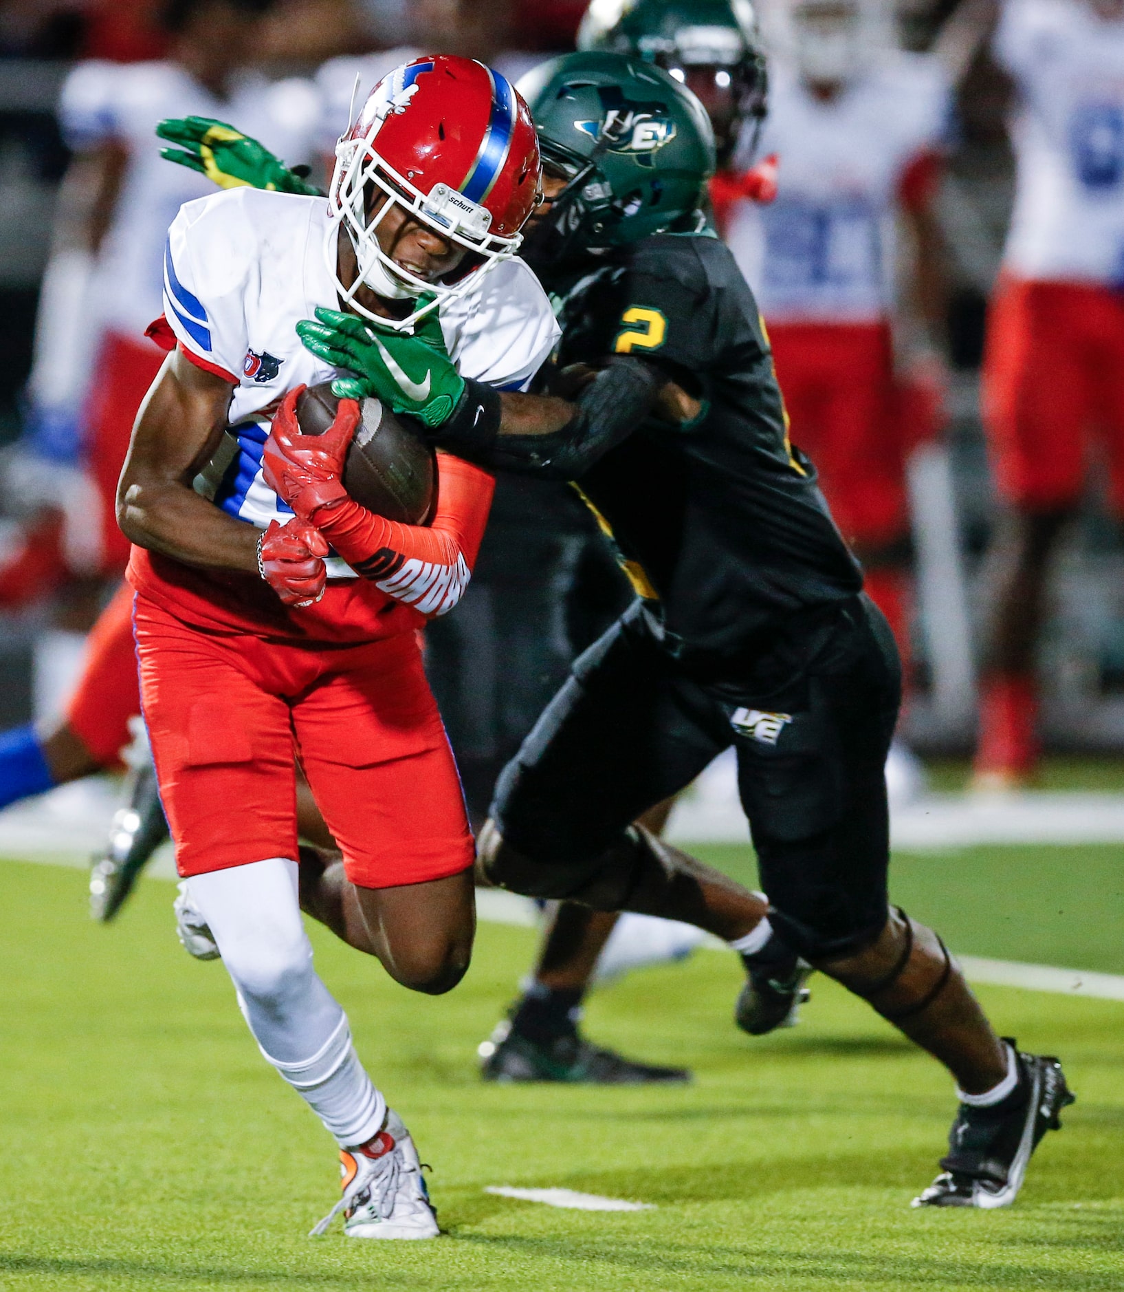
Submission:
[[[185,202],[214,185],[160,156],[156,123],[168,116],[212,116],[259,138],[288,163],[314,154],[320,99],[311,81],[267,81],[243,75],[218,99],[177,63],[79,63],[63,85],[62,128],[76,151],[112,140],[129,152],[112,224],[95,269],[97,326],[142,339],[160,313],[168,226]]]

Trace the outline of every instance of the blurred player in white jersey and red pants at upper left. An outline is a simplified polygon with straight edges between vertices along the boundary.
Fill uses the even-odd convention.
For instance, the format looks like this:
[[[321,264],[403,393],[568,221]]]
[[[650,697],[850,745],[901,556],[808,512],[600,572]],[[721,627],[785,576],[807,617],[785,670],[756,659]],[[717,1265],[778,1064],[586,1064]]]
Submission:
[[[159,314],[166,229],[182,203],[209,191],[160,160],[155,125],[237,115],[288,160],[311,156],[316,93],[250,70],[272,3],[166,0],[164,59],[79,63],[63,85],[59,120],[75,158],[40,304],[27,447],[52,472],[77,466],[89,477],[93,490],[66,512],[61,554],[106,575],[120,574],[129,553],[112,499],[133,416],[161,362],[145,328]],[[36,593],[46,590],[44,579]]]

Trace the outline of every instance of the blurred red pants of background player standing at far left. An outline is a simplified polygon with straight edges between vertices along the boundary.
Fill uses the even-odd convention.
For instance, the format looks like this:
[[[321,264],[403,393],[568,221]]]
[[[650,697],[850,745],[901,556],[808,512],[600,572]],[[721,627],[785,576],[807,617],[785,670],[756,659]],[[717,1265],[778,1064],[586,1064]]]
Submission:
[[[120,574],[129,562],[129,540],[117,528],[117,479],[141,401],[165,355],[151,341],[117,332],[102,339],[86,406],[86,461],[102,503],[102,570]]]

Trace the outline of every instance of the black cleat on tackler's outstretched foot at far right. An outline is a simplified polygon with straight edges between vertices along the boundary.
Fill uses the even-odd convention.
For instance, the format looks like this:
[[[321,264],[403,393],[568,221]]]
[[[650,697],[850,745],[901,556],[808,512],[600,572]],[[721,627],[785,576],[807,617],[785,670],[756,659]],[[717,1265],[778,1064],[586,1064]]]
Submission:
[[[1014,1049],[1014,1041],[1004,1037]],[[990,1109],[961,1103],[948,1134],[943,1171],[914,1207],[1009,1207],[1022,1187],[1030,1155],[1075,1096],[1062,1065],[1049,1054],[1019,1054],[1018,1085]]]

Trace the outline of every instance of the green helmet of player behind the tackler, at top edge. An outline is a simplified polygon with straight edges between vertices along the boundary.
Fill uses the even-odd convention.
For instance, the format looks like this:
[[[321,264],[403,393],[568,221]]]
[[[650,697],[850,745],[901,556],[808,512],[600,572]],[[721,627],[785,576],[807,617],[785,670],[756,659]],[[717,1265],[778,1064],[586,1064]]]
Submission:
[[[719,165],[738,145],[752,155],[768,111],[768,70],[750,0],[592,0],[579,49],[610,49],[657,63],[707,110]],[[743,140],[748,123],[752,134]]]

